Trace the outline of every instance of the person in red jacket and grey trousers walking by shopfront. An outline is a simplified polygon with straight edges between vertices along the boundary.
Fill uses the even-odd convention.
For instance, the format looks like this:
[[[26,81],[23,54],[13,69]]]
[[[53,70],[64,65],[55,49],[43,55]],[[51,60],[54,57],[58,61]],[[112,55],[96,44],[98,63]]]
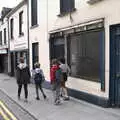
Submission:
[[[50,69],[50,80],[52,85],[52,91],[54,96],[54,104],[60,104],[60,87],[61,87],[61,69],[59,68],[58,60],[52,60],[52,66]]]

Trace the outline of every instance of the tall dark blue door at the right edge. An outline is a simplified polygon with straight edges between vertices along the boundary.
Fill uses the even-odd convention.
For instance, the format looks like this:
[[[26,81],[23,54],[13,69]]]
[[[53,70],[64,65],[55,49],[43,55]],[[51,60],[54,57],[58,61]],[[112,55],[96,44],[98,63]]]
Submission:
[[[110,27],[110,103],[120,106],[120,25]]]

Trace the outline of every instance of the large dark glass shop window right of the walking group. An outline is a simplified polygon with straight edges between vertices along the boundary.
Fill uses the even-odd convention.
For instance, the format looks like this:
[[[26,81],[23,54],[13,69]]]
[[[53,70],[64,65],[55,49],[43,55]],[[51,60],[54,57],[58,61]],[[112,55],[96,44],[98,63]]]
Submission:
[[[68,63],[71,66],[71,76],[91,81],[100,81],[101,43],[104,41],[104,31],[96,30],[71,36],[69,44]],[[102,41],[102,42],[101,42]]]

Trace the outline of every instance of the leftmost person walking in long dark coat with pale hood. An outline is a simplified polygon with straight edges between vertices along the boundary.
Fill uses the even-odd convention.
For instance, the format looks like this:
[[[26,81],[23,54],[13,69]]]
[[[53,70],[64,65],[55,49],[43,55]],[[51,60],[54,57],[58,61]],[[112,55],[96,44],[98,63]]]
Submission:
[[[25,102],[28,98],[28,83],[30,83],[30,71],[26,63],[24,63],[24,58],[20,58],[20,63],[16,69],[16,79],[18,84],[18,99],[20,100],[22,86],[24,86]]]

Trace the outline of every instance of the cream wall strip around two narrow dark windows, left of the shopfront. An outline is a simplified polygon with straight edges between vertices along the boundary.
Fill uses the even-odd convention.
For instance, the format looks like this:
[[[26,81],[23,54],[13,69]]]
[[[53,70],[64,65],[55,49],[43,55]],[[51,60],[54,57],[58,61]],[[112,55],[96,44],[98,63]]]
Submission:
[[[31,28],[31,0],[29,1],[29,40],[30,40],[30,68],[32,69],[32,43],[39,43],[39,62],[46,80],[49,80],[49,40],[47,34],[47,0],[38,0],[38,26]]]

